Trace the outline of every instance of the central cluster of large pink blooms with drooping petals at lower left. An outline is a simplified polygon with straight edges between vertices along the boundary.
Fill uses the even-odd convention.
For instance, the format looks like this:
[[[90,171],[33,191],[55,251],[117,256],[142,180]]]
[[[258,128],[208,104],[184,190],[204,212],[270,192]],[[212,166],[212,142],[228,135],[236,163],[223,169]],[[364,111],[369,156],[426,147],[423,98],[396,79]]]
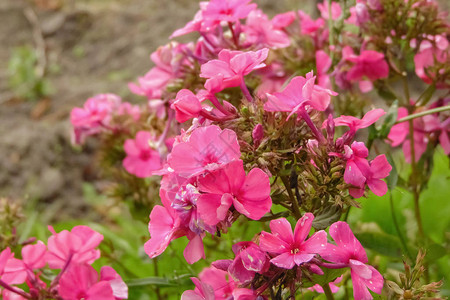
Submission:
[[[242,214],[258,220],[270,210],[269,176],[254,168],[245,174],[236,134],[218,126],[198,127],[178,137],[161,182],[163,206],[150,214],[150,257],[179,237],[189,239],[189,263],[204,257],[206,233],[225,229]]]

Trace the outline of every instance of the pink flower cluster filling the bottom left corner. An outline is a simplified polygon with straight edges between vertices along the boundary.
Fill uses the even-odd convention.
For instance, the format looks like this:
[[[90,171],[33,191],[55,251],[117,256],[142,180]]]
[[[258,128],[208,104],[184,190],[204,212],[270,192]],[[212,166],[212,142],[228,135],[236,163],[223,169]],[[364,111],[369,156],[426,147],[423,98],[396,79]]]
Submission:
[[[2,299],[42,299],[42,295],[63,300],[118,300],[128,298],[128,287],[114,269],[104,266],[100,274],[91,266],[100,257],[97,246],[103,236],[87,226],[56,233],[47,245],[42,241],[22,248],[21,259],[10,248],[0,253],[0,290]],[[51,282],[44,268],[59,270]],[[46,272],[48,273],[48,272]],[[45,276],[46,277],[46,276]],[[25,285],[28,291],[18,287]]]

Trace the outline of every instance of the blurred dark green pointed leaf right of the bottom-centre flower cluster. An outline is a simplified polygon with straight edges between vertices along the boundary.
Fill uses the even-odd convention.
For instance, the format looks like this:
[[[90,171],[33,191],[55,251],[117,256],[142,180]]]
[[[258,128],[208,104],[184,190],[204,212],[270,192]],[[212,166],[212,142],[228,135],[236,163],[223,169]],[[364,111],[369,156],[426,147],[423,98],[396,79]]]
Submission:
[[[398,237],[384,232],[361,232],[355,234],[361,244],[382,255],[401,257],[402,245]]]

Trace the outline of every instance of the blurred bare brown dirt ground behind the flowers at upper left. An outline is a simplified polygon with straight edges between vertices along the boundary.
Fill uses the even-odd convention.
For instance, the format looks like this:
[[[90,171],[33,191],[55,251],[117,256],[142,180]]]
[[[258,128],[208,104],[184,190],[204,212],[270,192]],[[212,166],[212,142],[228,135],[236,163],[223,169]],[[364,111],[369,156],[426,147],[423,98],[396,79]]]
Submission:
[[[293,1],[255,2],[274,14]],[[58,219],[82,212],[83,182],[99,178],[95,145],[71,146],[70,110],[98,93],[133,99],[127,83],[197,9],[194,0],[1,0],[0,196],[56,205]],[[9,87],[8,62],[24,45],[45,51],[48,99],[20,100]]]

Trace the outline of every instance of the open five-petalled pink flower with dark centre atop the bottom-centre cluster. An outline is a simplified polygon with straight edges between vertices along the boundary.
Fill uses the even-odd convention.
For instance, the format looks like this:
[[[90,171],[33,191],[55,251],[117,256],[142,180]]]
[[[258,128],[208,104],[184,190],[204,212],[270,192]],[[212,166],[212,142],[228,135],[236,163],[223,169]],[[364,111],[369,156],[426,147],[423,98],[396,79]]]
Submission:
[[[327,244],[325,231],[320,230],[306,240],[313,220],[313,214],[306,213],[297,221],[294,233],[285,218],[270,221],[272,234],[263,231],[259,240],[262,250],[275,254],[270,262],[280,268],[292,269],[309,262],[316,254],[322,254]]]

